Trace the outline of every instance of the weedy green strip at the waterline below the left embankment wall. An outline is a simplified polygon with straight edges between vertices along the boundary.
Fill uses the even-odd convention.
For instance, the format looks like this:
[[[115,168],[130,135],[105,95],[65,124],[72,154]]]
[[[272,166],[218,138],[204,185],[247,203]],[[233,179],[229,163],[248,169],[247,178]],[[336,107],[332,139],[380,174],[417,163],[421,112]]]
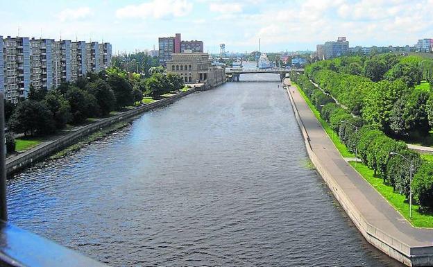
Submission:
[[[119,123],[115,123],[112,126],[105,128],[103,130],[100,130],[98,132],[92,133],[92,135],[89,135],[87,137],[83,137],[83,139],[80,139],[78,143],[73,144],[71,146],[68,146],[67,148],[61,150],[60,152],[52,155],[49,157],[50,160],[56,160],[60,157],[65,157],[65,155],[68,155],[69,153],[76,152],[77,150],[80,150],[80,148],[83,148],[83,146],[92,143],[92,141],[96,141],[99,139],[103,139],[104,137],[110,135],[110,133],[115,132],[121,128],[124,128],[125,126],[128,126],[128,121],[122,121]]]

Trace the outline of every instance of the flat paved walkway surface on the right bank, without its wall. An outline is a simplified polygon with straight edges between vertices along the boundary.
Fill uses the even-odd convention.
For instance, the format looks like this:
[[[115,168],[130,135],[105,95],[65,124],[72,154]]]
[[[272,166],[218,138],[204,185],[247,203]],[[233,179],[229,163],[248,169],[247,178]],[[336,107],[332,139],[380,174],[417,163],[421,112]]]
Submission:
[[[289,82],[289,79],[286,81]],[[319,158],[323,169],[332,173],[332,178],[366,221],[407,246],[433,246],[433,229],[411,226],[341,157],[303,97],[300,96],[298,89],[290,86],[287,92],[293,96],[300,118],[308,132],[312,150]]]

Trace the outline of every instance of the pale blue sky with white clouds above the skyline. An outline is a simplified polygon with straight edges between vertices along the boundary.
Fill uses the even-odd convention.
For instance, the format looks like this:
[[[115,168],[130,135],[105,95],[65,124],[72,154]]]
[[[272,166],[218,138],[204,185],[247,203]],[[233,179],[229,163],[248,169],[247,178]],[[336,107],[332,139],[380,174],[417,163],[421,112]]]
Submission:
[[[158,37],[202,40],[205,52],[413,45],[433,38],[433,0],[0,0],[0,35],[110,42],[113,53],[158,49]]]

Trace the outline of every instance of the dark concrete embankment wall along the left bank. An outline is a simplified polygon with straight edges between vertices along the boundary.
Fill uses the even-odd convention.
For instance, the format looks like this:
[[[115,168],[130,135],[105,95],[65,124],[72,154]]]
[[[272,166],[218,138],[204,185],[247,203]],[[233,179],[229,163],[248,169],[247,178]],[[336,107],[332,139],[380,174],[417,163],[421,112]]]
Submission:
[[[195,87],[189,89],[187,92],[180,92],[174,96],[164,98],[160,101],[148,103],[146,105],[143,105],[142,107],[137,107],[134,110],[129,110],[128,112],[123,112],[122,114],[118,114],[107,119],[102,119],[101,121],[89,124],[88,126],[71,132],[70,134],[65,135],[64,137],[61,137],[60,139],[57,139],[55,141],[52,141],[49,144],[40,146],[36,150],[29,150],[25,153],[22,153],[20,157],[15,157],[10,161],[6,160],[6,173],[9,175],[10,173],[22,170],[27,166],[31,166],[31,164],[34,164],[37,161],[44,160],[46,157],[49,157],[53,153],[56,153],[66,148],[67,146],[71,146],[72,144],[76,143],[81,137],[90,135],[93,132],[111,126],[114,123],[128,121],[130,119],[133,119],[137,115],[142,114],[143,112],[154,109],[155,107],[163,107],[165,105],[169,105],[170,103],[173,103],[174,101],[182,98],[183,96],[187,96],[188,94],[192,94],[197,91],[207,90],[210,88],[212,87],[208,85],[202,87]]]

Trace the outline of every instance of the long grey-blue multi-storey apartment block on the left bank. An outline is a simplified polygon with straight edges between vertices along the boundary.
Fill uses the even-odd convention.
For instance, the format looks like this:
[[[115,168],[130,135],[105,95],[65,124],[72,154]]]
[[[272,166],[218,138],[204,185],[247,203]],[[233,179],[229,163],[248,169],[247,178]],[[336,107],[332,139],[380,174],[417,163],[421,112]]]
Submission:
[[[111,57],[110,43],[0,37],[0,90],[18,103],[31,87],[49,90],[99,72],[111,66]]]

